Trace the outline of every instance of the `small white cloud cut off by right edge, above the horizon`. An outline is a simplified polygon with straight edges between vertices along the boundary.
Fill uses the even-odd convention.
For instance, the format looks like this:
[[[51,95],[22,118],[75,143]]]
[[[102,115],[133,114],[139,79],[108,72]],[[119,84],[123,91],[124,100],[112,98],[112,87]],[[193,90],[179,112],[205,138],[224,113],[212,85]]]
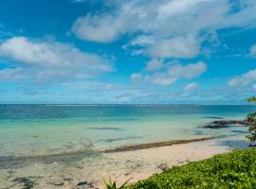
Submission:
[[[246,74],[229,79],[229,86],[245,87],[256,81],[256,69],[247,72]]]

